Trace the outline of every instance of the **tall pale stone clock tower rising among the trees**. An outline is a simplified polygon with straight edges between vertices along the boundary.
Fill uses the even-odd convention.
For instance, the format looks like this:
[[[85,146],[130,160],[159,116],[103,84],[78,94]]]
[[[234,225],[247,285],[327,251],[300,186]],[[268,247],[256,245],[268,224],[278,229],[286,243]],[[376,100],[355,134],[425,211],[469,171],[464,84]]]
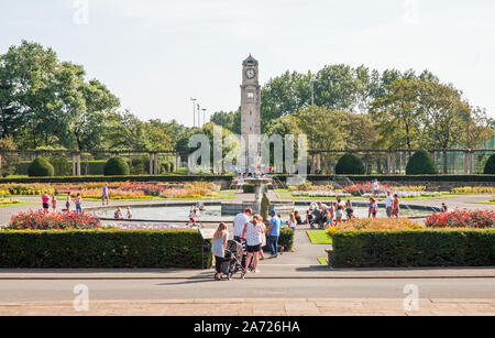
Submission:
[[[250,56],[242,63],[241,132],[245,142],[246,167],[255,173],[261,156],[261,86],[258,63]]]

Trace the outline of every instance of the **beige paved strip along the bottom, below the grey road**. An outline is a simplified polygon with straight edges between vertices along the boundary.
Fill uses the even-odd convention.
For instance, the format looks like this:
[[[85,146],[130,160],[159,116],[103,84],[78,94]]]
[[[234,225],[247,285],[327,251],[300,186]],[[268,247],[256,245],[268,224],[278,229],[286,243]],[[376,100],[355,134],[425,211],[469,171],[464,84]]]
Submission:
[[[70,301],[3,303],[0,316],[494,316],[494,299],[190,299],[96,301],[76,312]]]

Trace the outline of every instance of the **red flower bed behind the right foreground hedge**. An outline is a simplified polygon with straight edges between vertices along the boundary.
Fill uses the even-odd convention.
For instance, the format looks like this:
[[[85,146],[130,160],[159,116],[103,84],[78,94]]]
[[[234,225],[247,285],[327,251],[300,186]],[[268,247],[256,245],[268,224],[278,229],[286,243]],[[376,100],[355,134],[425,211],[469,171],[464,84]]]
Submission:
[[[432,214],[427,218],[428,228],[495,228],[493,210],[454,210],[452,212]]]

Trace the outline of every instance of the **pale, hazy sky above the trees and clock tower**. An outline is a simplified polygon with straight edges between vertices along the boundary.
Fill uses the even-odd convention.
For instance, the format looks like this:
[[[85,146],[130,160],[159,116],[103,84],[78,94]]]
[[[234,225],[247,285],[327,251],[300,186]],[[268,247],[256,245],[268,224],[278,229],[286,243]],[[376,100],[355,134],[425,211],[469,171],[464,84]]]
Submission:
[[[326,64],[428,68],[495,117],[493,0],[0,0],[0,53],[52,46],[143,119],[191,126],[190,97],[237,109],[249,53],[263,83]]]

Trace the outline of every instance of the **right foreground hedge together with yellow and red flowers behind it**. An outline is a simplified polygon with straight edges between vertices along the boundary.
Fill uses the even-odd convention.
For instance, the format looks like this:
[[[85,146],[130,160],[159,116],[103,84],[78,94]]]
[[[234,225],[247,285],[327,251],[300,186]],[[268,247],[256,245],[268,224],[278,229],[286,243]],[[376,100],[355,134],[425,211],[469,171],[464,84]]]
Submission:
[[[495,211],[432,214],[411,220],[354,220],[327,230],[334,268],[494,266]]]

